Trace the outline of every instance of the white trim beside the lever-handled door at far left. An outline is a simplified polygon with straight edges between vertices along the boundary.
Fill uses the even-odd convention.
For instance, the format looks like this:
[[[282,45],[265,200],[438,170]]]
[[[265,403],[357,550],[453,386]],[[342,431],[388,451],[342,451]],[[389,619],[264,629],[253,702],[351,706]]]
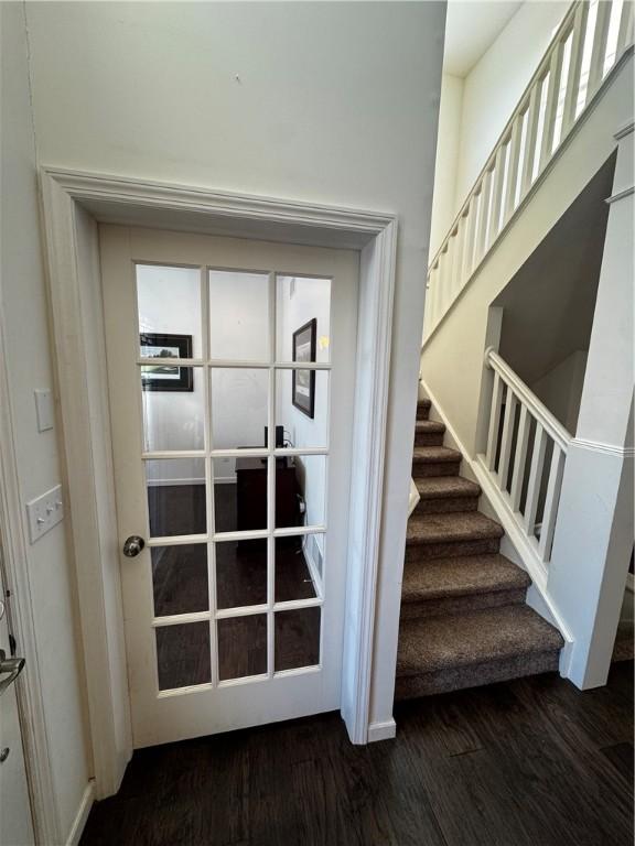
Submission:
[[[35,639],[35,615],[31,601],[26,536],[22,497],[15,464],[13,419],[0,305],[0,532],[4,553],[7,587],[11,590],[12,623],[26,668],[17,682],[20,728],[36,843],[60,843],[62,838],[53,770],[44,717],[44,699]]]

